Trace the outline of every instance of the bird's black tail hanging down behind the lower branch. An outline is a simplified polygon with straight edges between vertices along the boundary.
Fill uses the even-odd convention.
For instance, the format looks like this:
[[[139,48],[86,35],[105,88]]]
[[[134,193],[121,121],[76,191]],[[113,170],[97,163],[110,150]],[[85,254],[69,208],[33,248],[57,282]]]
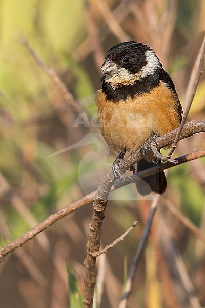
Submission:
[[[159,163],[161,161],[159,160]],[[137,172],[151,168],[153,166],[156,166],[154,163],[147,162],[145,159],[141,159],[137,163]],[[148,176],[143,179],[139,179],[135,183],[137,190],[140,195],[146,196],[149,195],[152,191],[156,192],[156,194],[163,194],[167,188],[167,180],[165,177],[165,172],[160,171],[152,176]]]

